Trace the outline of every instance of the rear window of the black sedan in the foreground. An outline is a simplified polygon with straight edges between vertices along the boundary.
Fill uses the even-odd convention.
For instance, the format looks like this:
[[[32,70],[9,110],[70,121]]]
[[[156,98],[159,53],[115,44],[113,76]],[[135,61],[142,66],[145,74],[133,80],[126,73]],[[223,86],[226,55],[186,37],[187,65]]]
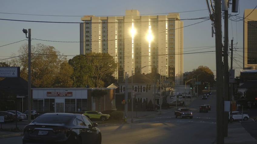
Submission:
[[[60,115],[42,115],[36,118],[33,123],[59,123],[67,124],[72,119],[71,116],[60,116]]]

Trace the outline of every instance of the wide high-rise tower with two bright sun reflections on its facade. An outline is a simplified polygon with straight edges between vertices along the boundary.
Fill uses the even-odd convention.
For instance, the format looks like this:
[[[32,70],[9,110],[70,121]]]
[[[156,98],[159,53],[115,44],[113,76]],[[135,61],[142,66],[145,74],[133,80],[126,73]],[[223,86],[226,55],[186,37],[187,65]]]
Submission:
[[[140,72],[160,73],[182,84],[183,22],[178,13],[140,15],[126,10],[125,16],[85,15],[81,20],[80,54],[109,53],[118,63],[118,82],[125,72]]]

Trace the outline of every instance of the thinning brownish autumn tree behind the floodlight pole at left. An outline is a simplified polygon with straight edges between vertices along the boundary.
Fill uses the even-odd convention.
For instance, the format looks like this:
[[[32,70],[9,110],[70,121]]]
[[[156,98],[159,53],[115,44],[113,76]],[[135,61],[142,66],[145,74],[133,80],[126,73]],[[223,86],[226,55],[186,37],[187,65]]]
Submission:
[[[28,45],[25,44],[18,50],[19,59],[17,66],[21,67],[21,77],[28,79]],[[60,52],[53,46],[36,44],[31,46],[31,82],[32,85],[42,87],[54,87],[55,78],[58,77],[60,64],[66,61],[66,57],[59,56]]]

